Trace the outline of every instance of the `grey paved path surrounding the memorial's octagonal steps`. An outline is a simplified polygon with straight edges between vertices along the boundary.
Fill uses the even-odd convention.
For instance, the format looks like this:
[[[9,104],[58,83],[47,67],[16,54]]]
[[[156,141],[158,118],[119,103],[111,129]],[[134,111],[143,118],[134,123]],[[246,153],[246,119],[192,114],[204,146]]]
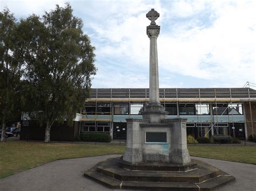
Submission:
[[[111,190],[99,183],[87,179],[83,173],[98,161],[119,155],[105,155],[79,159],[57,160],[29,169],[21,173],[0,179],[0,190]],[[233,175],[231,182],[221,191],[256,190],[256,165],[229,162],[214,159],[200,159]]]

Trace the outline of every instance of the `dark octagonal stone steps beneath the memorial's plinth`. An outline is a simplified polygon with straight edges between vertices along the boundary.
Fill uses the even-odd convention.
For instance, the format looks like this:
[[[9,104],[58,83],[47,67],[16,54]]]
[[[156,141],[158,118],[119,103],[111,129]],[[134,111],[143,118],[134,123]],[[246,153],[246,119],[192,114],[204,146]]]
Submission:
[[[200,160],[186,165],[129,164],[123,158],[99,162],[84,175],[112,189],[213,190],[235,178]]]

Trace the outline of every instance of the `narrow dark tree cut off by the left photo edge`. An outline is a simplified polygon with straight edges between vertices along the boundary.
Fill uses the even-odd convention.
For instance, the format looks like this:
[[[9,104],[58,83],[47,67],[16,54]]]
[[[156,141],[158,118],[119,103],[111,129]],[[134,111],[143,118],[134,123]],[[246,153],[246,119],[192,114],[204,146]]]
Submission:
[[[22,60],[17,41],[17,22],[5,9],[0,12],[0,121],[1,142],[4,141],[6,124],[17,122],[21,114]]]

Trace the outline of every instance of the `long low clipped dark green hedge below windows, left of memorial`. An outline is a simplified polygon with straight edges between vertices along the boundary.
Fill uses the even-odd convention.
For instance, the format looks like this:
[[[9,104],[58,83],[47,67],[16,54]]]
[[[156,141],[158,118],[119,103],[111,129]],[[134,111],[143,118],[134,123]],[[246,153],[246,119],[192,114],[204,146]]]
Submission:
[[[107,133],[81,133],[77,140],[82,142],[104,142],[110,143],[111,136]]]

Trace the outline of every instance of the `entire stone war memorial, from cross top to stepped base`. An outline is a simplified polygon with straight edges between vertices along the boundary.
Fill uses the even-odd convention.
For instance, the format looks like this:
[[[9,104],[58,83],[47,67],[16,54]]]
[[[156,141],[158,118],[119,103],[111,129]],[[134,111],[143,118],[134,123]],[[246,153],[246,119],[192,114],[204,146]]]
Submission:
[[[187,150],[186,119],[168,119],[159,101],[157,38],[151,9],[146,17],[150,39],[150,99],[143,119],[126,119],[126,150],[121,158],[99,162],[85,176],[113,189],[212,190],[234,181],[234,177],[200,160]]]

